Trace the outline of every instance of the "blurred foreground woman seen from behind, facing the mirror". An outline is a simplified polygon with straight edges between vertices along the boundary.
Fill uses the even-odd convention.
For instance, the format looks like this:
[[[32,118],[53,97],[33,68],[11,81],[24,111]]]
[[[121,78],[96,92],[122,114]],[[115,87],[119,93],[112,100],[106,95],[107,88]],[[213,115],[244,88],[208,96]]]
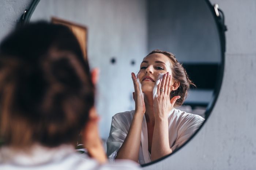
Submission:
[[[138,169],[106,163],[94,83],[72,32],[44,22],[11,33],[0,46],[0,169]],[[74,148],[79,134],[88,156]]]

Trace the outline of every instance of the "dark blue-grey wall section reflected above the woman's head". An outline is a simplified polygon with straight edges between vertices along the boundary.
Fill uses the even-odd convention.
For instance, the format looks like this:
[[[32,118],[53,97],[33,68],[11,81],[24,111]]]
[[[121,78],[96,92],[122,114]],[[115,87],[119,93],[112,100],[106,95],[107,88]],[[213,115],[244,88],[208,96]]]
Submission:
[[[149,0],[148,48],[182,63],[221,62],[218,30],[205,0]]]

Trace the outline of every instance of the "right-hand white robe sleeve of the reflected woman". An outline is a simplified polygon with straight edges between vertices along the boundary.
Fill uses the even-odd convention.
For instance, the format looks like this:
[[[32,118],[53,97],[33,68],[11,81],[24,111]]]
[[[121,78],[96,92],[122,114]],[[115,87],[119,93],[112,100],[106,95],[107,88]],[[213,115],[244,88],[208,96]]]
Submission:
[[[199,115],[189,115],[187,118],[182,119],[180,127],[177,132],[177,139],[174,145],[171,147],[172,151],[176,150],[183,143],[185,143],[201,126],[204,122],[204,118]]]

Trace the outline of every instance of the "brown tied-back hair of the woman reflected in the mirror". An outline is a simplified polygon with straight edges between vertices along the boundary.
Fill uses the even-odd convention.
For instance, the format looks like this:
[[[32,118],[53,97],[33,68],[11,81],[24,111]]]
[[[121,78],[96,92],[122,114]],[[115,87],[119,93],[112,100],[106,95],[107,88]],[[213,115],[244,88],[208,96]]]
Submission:
[[[179,82],[180,86],[177,90],[171,92],[170,98],[172,99],[174,96],[180,96],[180,99],[176,101],[175,106],[181,106],[187,98],[190,85],[195,86],[195,84],[189,79],[185,68],[178,62],[174,54],[167,51],[153,50],[147,56],[156,53],[163,54],[171,60],[172,78],[175,82]]]

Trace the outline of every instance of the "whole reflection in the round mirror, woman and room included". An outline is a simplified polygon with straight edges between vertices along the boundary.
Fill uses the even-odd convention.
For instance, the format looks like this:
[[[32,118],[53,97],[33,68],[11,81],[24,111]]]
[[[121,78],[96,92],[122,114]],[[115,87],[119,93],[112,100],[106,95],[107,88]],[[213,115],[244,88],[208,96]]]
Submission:
[[[100,69],[96,103],[110,159],[157,160],[207,118],[221,49],[206,1],[44,0],[31,21],[53,17],[86,28],[77,37]]]

